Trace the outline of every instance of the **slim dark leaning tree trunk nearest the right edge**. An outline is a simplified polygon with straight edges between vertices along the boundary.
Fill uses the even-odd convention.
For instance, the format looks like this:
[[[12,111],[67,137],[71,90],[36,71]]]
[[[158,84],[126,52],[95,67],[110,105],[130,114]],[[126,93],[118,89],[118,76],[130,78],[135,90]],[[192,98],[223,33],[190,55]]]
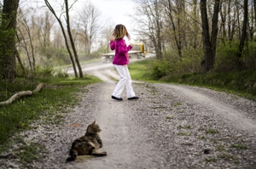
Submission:
[[[244,0],[243,8],[244,8],[243,24],[241,28],[241,37],[240,37],[240,42],[238,47],[238,53],[236,57],[236,66],[238,70],[243,69],[243,64],[241,62],[241,53],[242,53],[245,39],[247,37],[248,0]]]

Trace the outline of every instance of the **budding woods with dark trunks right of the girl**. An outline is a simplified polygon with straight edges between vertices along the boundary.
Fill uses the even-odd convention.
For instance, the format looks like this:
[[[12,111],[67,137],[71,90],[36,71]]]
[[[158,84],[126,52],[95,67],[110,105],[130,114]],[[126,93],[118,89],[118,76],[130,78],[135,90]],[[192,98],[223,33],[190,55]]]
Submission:
[[[135,31],[160,59],[155,78],[255,70],[255,1],[136,2]]]

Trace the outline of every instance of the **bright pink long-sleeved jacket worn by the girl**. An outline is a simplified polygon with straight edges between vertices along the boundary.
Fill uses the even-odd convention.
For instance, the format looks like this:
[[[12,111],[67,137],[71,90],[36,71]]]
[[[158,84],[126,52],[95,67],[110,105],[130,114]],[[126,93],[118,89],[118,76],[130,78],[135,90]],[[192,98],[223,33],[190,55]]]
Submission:
[[[109,42],[111,50],[115,50],[113,65],[128,65],[129,55],[128,51],[131,50],[131,45],[126,46],[124,39],[116,39]]]

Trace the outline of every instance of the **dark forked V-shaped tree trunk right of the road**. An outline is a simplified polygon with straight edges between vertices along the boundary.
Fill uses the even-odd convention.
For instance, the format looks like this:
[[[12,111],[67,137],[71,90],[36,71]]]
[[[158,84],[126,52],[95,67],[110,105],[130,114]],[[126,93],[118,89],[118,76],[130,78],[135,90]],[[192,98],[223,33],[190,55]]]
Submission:
[[[218,12],[220,1],[215,0],[214,11],[212,15],[212,37],[210,37],[209,22],[207,15],[207,0],[201,0],[201,23],[202,23],[202,38],[204,44],[204,61],[202,62],[204,72],[212,70],[215,54],[216,42],[218,36]]]

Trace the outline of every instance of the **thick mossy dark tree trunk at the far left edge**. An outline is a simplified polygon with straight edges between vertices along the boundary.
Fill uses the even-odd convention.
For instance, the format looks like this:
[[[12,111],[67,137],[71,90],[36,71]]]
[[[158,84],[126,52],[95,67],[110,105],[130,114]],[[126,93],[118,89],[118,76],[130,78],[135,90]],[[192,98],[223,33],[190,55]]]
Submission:
[[[19,6],[19,0],[4,0],[3,1],[3,20],[8,20],[8,25],[3,28],[8,35],[1,37],[0,44],[0,76],[3,79],[13,80],[16,74],[16,57],[15,57],[15,36],[16,36],[16,14]],[[3,22],[2,22],[3,24]],[[2,25],[1,25],[2,26]],[[4,26],[4,25],[3,25]],[[5,37],[9,36],[9,37]]]

